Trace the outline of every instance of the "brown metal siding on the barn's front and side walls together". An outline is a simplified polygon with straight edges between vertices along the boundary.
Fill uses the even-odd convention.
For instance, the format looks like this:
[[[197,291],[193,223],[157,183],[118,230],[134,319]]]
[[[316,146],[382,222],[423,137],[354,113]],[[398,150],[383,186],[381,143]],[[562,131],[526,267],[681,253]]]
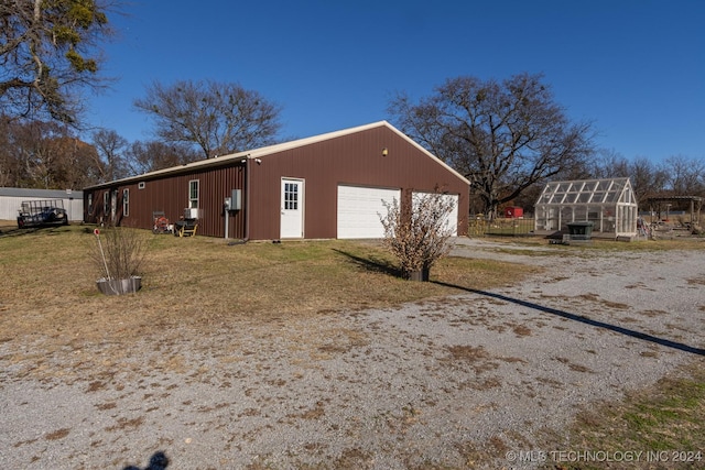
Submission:
[[[382,155],[382,149],[388,150],[387,156]],[[246,187],[247,168],[250,194]],[[457,194],[458,234],[467,234],[467,184],[383,125],[264,155],[259,164],[253,160],[247,163],[224,161],[224,165],[144,181],[143,189],[139,189],[139,179],[116,185],[118,223],[151,229],[154,210],[163,210],[172,222],[178,220],[188,206],[188,182],[198,179],[199,234],[224,236],[223,203],[231,189],[239,188],[242,190],[242,210],[229,215],[229,238],[279,239],[281,181],[284,177],[304,181],[303,223],[304,238],[307,239],[337,238],[337,188],[340,184],[399,188],[405,193],[433,192],[437,186],[448,194]],[[108,186],[84,192],[87,222],[98,222],[105,216],[102,192],[113,188]],[[121,217],[123,188],[130,189],[130,214],[127,217]],[[88,210],[88,194],[94,195],[91,211]],[[249,217],[246,216],[248,208]]]

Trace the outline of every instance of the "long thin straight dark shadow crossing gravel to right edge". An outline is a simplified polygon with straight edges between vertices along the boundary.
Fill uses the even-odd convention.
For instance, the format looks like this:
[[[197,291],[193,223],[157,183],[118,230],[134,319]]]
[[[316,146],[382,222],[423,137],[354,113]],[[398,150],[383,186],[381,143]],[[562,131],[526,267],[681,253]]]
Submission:
[[[509,302],[509,303],[512,303],[512,304],[521,305],[522,307],[533,308],[534,310],[545,311],[546,314],[556,315],[558,317],[566,318],[568,320],[579,321],[582,324],[589,325],[589,326],[597,327],[597,328],[604,328],[604,329],[607,329],[607,330],[610,330],[610,331],[618,332],[620,335],[625,335],[625,336],[629,336],[629,337],[632,337],[632,338],[641,339],[643,341],[654,342],[657,345],[661,345],[661,346],[664,346],[666,348],[677,349],[679,351],[690,352],[692,354],[705,356],[705,349],[695,348],[695,347],[692,347],[692,346],[688,346],[688,345],[684,345],[682,342],[671,341],[670,339],[665,339],[665,338],[659,338],[659,337],[653,336],[653,335],[648,335],[646,332],[632,330],[632,329],[620,327],[620,326],[617,326],[617,325],[607,324],[605,321],[594,320],[592,318],[587,318],[587,317],[584,317],[584,316],[581,316],[581,315],[576,315],[576,314],[571,314],[568,311],[558,310],[556,308],[544,307],[543,305],[534,304],[534,303],[522,300],[522,299],[519,299],[519,298],[508,297],[508,296],[501,295],[501,294],[495,294],[492,292],[479,291],[479,289],[467,288],[467,287],[460,287],[458,285],[447,284],[447,283],[444,283],[444,282],[438,282],[438,281],[432,281],[432,282],[435,283],[435,284],[438,284],[438,285],[446,286],[446,287],[453,287],[453,288],[457,288],[457,289],[460,289],[460,291],[469,292],[469,293],[473,293],[473,294],[484,295],[486,297],[492,297],[492,298],[497,298],[499,300],[505,300],[505,302]]]

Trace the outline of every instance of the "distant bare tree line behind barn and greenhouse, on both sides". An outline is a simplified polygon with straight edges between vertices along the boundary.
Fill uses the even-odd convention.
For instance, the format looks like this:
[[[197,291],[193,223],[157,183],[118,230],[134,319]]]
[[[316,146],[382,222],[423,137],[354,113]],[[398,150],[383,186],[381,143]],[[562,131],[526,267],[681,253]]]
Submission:
[[[98,129],[89,142],[57,121],[0,119],[0,186],[83,188],[275,142],[280,108],[237,84],[153,84],[135,107],[155,120],[154,139],[129,142]],[[419,102],[399,95],[400,129],[470,181],[470,209],[531,210],[555,179],[630,177],[640,203],[705,197],[705,162],[673,155],[654,163],[593,146],[592,125],[572,123],[541,76],[503,83],[448,80]],[[677,206],[674,206],[677,208]]]

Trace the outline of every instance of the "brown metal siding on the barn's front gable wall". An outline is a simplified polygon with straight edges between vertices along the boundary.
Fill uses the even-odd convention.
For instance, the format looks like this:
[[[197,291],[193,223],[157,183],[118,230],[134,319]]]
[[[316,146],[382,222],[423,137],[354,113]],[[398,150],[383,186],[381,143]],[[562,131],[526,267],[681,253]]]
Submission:
[[[382,149],[388,150],[382,156]],[[304,179],[304,238],[336,238],[339,184],[458,194],[458,234],[467,233],[468,187],[465,182],[395,132],[380,127],[267,155],[252,163],[250,237],[280,236],[282,177]]]

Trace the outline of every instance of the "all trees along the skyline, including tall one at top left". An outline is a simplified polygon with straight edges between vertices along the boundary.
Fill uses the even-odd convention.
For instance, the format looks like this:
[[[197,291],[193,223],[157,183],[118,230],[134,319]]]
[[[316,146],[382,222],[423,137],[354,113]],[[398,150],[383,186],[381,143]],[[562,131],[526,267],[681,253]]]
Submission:
[[[110,81],[100,75],[99,46],[121,3],[0,0],[0,186],[77,189],[276,142],[276,103],[210,80],[147,87],[133,105],[151,118],[152,140],[88,132],[82,97]],[[449,78],[420,99],[398,94],[388,111],[467,177],[471,210],[489,217],[505,205],[531,209],[555,179],[628,176],[640,201],[705,196],[702,159],[653,163],[596,149],[593,124],[568,119],[542,75]]]

